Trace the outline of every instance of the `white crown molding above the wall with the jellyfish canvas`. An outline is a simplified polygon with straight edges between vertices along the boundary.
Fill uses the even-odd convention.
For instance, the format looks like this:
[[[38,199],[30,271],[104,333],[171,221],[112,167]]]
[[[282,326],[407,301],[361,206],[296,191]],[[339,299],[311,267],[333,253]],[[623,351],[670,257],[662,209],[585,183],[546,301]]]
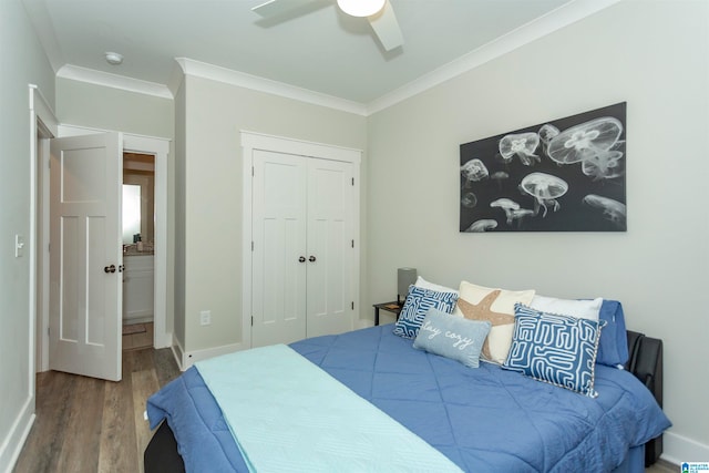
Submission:
[[[573,24],[586,17],[604,10],[620,0],[574,0],[526,24],[495,39],[461,58],[431,71],[403,86],[374,99],[367,104],[367,115],[380,112],[399,102],[425,92],[445,81],[522,48],[540,38]]]

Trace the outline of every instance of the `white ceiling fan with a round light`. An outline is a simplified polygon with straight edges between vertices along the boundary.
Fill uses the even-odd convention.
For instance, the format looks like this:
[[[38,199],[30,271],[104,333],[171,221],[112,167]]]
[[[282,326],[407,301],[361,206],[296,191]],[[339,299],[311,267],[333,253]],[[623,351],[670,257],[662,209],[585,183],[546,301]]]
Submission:
[[[266,3],[254,7],[251,11],[264,18],[273,18],[287,13],[294,9],[294,6],[302,6],[308,1],[269,0]],[[337,4],[347,14],[367,18],[386,51],[391,51],[403,44],[403,35],[389,0],[337,0]]]

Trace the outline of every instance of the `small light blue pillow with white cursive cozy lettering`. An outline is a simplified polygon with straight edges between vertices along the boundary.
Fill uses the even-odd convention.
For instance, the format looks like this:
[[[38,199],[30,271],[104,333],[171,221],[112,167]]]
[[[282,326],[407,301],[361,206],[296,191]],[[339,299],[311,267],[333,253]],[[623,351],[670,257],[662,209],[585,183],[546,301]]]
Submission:
[[[429,309],[413,348],[460,361],[469,368],[477,368],[480,350],[492,325],[476,322],[436,309]]]

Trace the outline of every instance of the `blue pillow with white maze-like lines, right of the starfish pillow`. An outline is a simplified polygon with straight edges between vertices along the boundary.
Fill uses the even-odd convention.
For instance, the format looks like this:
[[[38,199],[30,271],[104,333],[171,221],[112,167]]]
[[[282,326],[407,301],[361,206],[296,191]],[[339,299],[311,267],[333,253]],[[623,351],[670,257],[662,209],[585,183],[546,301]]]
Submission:
[[[503,368],[590,398],[600,329],[605,321],[514,306],[512,348]]]

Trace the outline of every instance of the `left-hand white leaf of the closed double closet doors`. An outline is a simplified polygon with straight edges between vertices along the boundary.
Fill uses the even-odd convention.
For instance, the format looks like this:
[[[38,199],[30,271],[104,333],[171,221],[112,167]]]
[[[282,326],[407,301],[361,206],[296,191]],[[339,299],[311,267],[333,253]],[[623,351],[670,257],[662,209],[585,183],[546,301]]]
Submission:
[[[306,337],[307,161],[255,151],[251,346]]]

